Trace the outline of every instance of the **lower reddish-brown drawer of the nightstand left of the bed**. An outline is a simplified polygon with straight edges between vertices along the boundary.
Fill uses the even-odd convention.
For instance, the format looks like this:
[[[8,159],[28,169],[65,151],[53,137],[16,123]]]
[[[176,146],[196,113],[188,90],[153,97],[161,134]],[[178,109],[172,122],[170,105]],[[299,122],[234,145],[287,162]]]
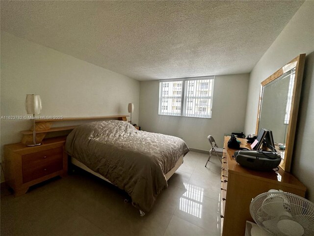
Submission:
[[[28,168],[23,168],[23,183],[29,182],[33,179],[43,177],[53,172],[60,171],[63,169],[63,159],[62,156],[58,156],[57,159],[52,159],[50,161],[44,161],[36,166],[30,166]]]

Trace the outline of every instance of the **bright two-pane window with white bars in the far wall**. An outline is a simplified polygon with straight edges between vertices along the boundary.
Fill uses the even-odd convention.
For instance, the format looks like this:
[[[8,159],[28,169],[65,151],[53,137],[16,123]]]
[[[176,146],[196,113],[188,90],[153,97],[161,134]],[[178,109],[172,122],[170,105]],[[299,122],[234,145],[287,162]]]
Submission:
[[[213,85],[214,76],[160,80],[158,114],[211,118]]]

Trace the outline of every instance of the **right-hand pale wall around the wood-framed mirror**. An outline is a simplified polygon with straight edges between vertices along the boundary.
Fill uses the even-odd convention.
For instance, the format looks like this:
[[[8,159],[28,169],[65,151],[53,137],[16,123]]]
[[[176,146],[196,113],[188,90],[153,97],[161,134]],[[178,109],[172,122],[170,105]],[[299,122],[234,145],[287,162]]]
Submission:
[[[305,1],[250,74],[245,132],[255,131],[260,83],[299,54],[306,53],[292,174],[314,202],[314,1]]]

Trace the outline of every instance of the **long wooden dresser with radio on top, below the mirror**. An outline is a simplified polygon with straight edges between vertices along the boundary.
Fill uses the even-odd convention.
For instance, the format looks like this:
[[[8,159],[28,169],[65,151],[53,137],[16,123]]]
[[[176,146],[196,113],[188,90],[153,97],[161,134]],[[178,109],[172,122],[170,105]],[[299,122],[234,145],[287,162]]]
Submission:
[[[229,136],[225,137],[221,167],[221,234],[243,236],[246,221],[253,221],[250,215],[253,198],[269,189],[280,189],[304,197],[306,187],[282,169],[259,172],[240,166],[233,157],[235,149],[227,147],[229,139]],[[238,140],[242,142],[241,147],[251,149],[245,139]]]

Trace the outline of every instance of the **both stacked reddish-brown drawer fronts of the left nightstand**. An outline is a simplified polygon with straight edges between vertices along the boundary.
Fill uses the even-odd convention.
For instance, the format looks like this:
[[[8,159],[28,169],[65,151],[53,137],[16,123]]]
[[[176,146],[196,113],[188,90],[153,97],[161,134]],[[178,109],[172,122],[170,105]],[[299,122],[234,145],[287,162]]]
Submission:
[[[23,183],[63,169],[62,147],[22,156]]]

